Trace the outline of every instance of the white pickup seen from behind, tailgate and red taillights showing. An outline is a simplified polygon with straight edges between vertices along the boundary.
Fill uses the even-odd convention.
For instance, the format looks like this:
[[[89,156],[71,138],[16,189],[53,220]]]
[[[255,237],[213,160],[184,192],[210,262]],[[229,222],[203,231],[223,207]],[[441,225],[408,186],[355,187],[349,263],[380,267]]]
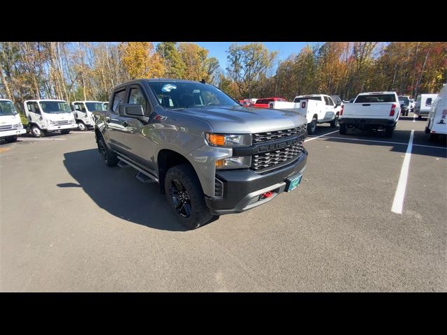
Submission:
[[[340,134],[348,128],[360,130],[385,130],[387,137],[393,136],[399,119],[400,103],[394,91],[360,93],[353,103],[344,105],[340,112]]]

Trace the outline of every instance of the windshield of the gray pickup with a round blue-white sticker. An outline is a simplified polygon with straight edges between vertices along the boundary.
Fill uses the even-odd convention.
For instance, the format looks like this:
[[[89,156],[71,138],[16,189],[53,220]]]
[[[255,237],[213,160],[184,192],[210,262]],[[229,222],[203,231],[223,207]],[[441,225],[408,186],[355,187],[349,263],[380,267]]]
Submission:
[[[221,90],[200,82],[149,82],[149,87],[160,105],[166,108],[239,106]]]

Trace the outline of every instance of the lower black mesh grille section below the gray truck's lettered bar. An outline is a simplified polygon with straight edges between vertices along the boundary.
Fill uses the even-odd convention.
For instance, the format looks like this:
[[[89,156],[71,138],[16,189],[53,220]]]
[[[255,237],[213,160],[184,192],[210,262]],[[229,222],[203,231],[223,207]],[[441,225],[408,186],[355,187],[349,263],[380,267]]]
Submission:
[[[288,148],[253,155],[251,157],[251,169],[256,172],[267,172],[280,168],[295,161],[303,149],[302,143],[297,143]]]

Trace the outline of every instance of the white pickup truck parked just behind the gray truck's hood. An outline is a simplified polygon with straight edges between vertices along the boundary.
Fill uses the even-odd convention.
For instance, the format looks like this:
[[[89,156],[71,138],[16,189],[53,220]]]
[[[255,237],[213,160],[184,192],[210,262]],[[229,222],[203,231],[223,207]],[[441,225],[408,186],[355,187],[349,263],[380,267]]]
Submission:
[[[300,113],[307,119],[307,133],[316,132],[316,124],[329,123],[331,127],[338,124],[339,112],[337,105],[330,96],[325,94],[309,94],[307,96],[295,96],[293,103],[272,101],[270,108],[277,110],[292,110]]]

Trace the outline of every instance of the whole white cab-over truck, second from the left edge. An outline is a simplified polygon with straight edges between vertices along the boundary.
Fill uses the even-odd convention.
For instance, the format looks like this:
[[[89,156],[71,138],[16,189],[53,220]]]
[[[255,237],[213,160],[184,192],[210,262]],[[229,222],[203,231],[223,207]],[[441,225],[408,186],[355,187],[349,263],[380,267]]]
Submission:
[[[41,137],[53,131],[68,134],[72,129],[78,128],[70,105],[64,100],[26,100],[23,110],[34,137]]]

